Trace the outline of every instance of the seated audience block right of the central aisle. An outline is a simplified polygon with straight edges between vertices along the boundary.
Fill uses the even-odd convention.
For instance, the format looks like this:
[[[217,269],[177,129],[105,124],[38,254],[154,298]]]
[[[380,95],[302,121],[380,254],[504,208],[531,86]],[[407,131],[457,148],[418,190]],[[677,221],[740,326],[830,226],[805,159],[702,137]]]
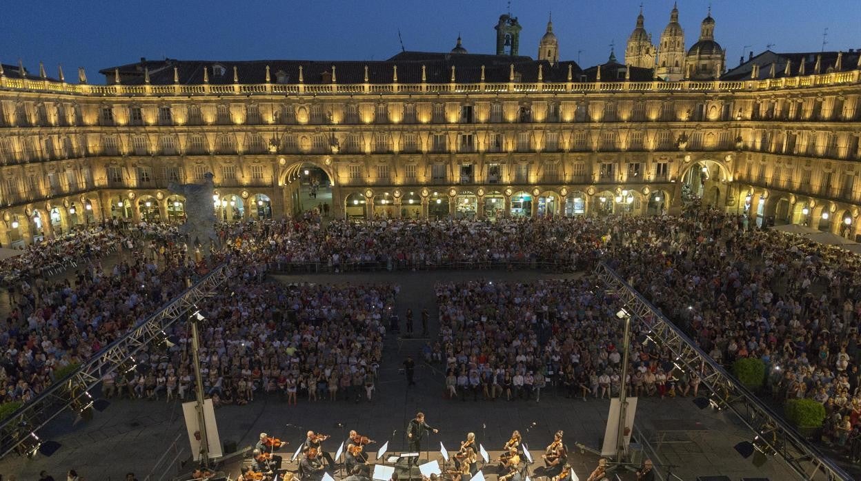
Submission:
[[[584,401],[618,396],[620,305],[595,285],[592,275],[438,284],[439,342],[427,357],[446,366],[449,398],[538,400],[546,389]],[[630,392],[697,396],[697,374],[678,369],[668,349],[647,342],[647,325],[638,320],[632,329]]]

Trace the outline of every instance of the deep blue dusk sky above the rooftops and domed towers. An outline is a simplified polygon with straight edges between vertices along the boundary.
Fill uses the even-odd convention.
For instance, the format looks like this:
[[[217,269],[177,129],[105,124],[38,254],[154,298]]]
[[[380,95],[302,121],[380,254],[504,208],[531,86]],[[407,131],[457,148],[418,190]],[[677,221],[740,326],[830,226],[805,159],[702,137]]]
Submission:
[[[560,40],[560,59],[584,68],[603,63],[615,40],[623,59],[640,0],[513,0],[511,15],[523,31],[520,53],[536,57],[548,12]],[[658,41],[672,0],[643,0],[647,31]],[[738,65],[743,50],[819,52],[861,47],[861,0],[715,0],[715,38]],[[28,71],[45,62],[56,76],[77,78],[84,66],[90,83],[103,83],[99,69],[147,59],[387,59],[407,50],[447,52],[460,33],[469,52],[494,53],[493,26],[505,0],[89,0],[3,2],[0,60],[23,59]],[[680,0],[679,22],[691,46],[709,0]],[[743,46],[748,46],[743,49]],[[580,51],[578,53],[578,51]]]

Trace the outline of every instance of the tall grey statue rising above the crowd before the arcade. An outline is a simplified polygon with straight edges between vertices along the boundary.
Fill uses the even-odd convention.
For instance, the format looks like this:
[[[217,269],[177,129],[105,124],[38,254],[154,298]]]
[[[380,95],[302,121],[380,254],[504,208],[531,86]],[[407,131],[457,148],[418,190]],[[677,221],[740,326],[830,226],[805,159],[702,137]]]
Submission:
[[[203,178],[200,184],[170,182],[167,186],[170,192],[185,196],[185,224],[179,227],[179,232],[188,236],[188,255],[192,258],[198,245],[205,258],[209,257],[213,247],[220,247],[219,238],[215,235],[215,184],[212,172],[207,172]]]

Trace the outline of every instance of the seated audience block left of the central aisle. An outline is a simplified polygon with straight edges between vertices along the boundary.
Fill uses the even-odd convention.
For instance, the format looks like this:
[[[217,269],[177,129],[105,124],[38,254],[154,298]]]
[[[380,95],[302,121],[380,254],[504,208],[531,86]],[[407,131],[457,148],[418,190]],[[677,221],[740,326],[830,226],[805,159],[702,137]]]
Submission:
[[[263,281],[211,299],[201,321],[201,380],[215,406],[248,404],[277,395],[288,404],[371,400],[382,356],[385,321],[397,287],[331,286]],[[175,324],[171,348],[151,348],[137,367],[108,373],[108,398],[183,399],[193,396],[188,324]]]

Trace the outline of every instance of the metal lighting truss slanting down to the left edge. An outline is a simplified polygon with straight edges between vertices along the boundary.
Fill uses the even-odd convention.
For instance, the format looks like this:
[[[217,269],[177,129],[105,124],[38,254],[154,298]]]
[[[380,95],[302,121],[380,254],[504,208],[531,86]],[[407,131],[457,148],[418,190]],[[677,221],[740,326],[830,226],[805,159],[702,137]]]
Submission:
[[[226,264],[213,268],[195,285],[140,322],[136,328],[108,344],[90,361],[82,363],[77,371],[54,383],[0,422],[0,458],[14,451],[27,441],[28,435],[44,427],[65,410],[89,407],[88,404],[92,404],[90,390],[102,381],[102,376],[121,366],[133,366],[134,355],[148,344],[162,341],[164,330],[179,320],[184,321],[186,312],[197,311],[196,304],[225,283],[227,274]]]

